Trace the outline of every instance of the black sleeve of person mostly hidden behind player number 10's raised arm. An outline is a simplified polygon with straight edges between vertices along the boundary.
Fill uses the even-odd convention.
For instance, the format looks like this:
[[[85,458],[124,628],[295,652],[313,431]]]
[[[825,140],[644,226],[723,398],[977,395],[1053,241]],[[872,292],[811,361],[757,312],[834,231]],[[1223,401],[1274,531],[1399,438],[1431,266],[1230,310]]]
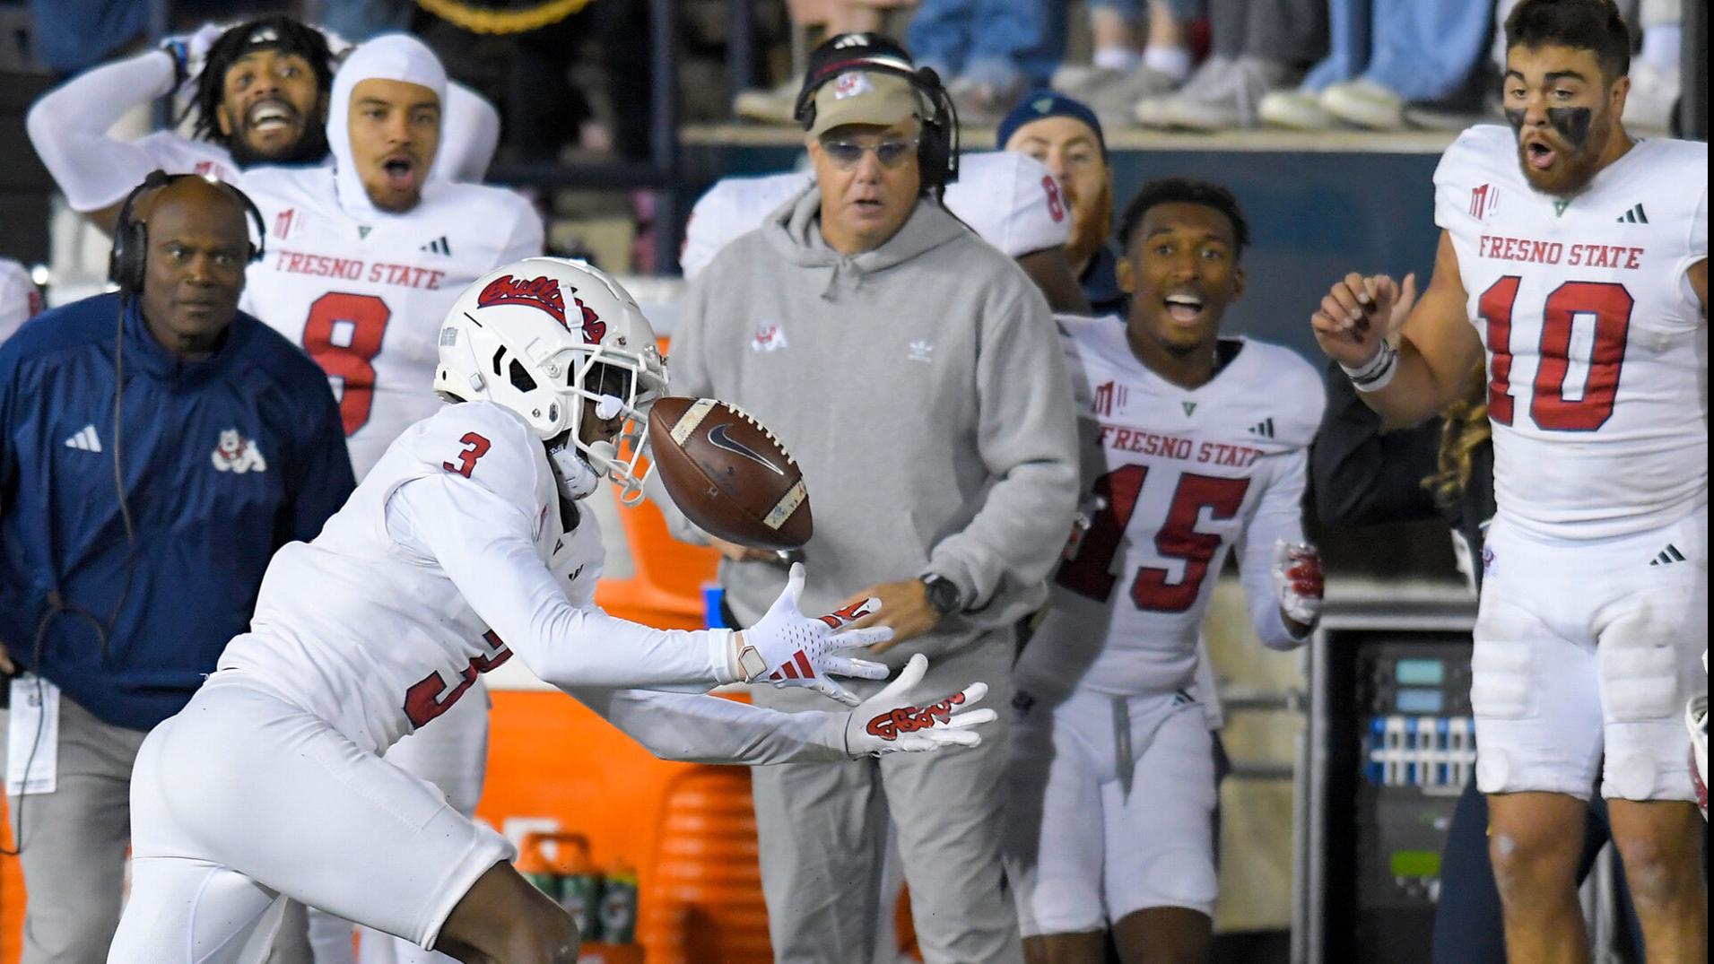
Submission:
[[[1323,522],[1368,526],[1438,515],[1423,488],[1440,452],[1440,420],[1381,435],[1381,416],[1327,366],[1327,411],[1309,450],[1315,512]]]

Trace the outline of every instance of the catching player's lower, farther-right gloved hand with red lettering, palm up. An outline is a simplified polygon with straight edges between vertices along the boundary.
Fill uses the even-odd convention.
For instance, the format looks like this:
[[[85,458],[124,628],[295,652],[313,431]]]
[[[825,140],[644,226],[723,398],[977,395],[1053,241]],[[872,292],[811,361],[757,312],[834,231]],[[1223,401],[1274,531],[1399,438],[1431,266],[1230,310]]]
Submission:
[[[845,752],[857,757],[927,753],[946,747],[977,747],[977,726],[996,719],[991,709],[970,709],[987,695],[987,683],[970,683],[944,700],[912,704],[910,690],[922,681],[929,658],[915,654],[898,678],[845,714]]]

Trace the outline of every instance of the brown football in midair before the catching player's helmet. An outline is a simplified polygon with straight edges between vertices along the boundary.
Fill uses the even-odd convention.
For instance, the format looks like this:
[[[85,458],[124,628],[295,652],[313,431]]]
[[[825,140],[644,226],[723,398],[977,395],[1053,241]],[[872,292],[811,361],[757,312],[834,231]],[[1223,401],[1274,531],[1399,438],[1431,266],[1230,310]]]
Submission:
[[[708,534],[758,550],[809,541],[804,476],[749,414],[716,399],[668,396],[648,413],[648,440],[667,495]]]

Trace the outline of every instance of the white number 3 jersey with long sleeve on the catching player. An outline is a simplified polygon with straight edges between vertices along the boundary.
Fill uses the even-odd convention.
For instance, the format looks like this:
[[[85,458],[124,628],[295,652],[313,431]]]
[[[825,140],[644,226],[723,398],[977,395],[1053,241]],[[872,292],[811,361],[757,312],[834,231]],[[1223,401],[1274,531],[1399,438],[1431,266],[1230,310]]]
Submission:
[[[583,536],[578,536],[583,533]],[[449,709],[516,651],[569,687],[730,681],[727,634],[651,630],[567,601],[576,560],[600,558],[584,514],[566,550],[547,452],[492,402],[408,428],[312,543],[274,555],[250,634],[219,669],[327,719],[369,752]],[[569,568],[548,572],[560,548]]]

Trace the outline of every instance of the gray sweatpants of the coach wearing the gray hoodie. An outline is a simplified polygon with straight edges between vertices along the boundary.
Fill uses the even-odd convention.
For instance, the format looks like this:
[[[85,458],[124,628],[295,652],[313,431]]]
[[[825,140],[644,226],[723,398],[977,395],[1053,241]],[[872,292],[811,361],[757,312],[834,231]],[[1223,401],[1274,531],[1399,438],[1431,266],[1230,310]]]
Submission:
[[[999,721],[975,750],[891,753],[848,764],[751,771],[768,933],[782,964],[874,957],[886,818],[898,834],[910,914],[927,964],[1022,964],[1018,919],[999,863],[1013,632],[939,659],[919,693],[939,699],[982,680]],[[859,695],[881,683],[847,681]],[[804,688],[752,690],[758,705],[833,709]]]

